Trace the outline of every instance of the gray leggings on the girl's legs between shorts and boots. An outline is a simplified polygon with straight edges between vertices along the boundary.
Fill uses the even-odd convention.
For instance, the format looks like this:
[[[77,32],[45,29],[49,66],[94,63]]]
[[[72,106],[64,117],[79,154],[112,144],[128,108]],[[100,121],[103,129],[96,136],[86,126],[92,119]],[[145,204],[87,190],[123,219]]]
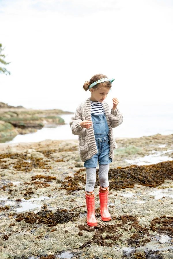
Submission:
[[[108,172],[109,172],[109,164],[100,165],[99,164],[99,181],[101,187],[108,187]],[[94,191],[94,186],[96,182],[96,167],[86,167],[86,192]]]

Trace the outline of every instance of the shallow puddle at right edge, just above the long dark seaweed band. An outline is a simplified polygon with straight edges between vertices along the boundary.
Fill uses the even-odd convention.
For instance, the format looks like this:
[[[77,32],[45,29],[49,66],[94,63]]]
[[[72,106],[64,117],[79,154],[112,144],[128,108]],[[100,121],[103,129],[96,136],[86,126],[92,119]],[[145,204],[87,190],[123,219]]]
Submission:
[[[172,157],[169,156],[164,156],[161,157],[161,154],[166,154],[166,153],[172,153],[173,149],[165,150],[165,151],[155,151],[153,150],[151,155],[140,157],[135,160],[130,160],[130,159],[125,159],[125,161],[129,164],[135,164],[135,165],[151,165],[151,164],[156,164],[159,162],[163,161],[172,161]]]

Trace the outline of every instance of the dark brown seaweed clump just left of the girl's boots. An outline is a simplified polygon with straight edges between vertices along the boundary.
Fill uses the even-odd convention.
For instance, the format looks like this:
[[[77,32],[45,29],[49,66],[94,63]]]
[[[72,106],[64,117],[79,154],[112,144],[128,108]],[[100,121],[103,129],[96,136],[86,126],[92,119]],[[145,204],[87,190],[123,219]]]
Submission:
[[[48,226],[56,226],[58,223],[67,223],[69,221],[74,221],[78,215],[79,213],[69,212],[65,209],[57,209],[55,213],[51,210],[44,209],[40,210],[36,214],[33,212],[20,213],[17,215],[15,220],[17,222],[25,220],[25,222],[29,224],[44,223]]]

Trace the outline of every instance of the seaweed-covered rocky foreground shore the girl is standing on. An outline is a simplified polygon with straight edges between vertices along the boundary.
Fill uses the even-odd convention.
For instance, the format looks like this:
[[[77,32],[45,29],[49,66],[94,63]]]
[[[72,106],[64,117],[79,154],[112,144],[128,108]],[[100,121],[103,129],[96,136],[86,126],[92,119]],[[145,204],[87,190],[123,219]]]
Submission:
[[[86,224],[78,140],[0,144],[0,258],[173,258],[173,134],[116,138],[108,209]]]

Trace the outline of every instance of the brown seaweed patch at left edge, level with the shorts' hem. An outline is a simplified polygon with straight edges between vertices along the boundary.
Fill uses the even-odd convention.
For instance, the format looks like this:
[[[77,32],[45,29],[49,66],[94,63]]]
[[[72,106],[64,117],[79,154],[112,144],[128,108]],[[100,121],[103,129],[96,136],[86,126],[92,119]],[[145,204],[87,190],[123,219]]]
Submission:
[[[35,157],[30,157],[28,161],[27,154],[23,153],[0,154],[0,159],[3,158],[18,159],[18,161],[12,162],[13,168],[16,169],[16,171],[30,172],[33,168],[52,169],[52,167],[48,165],[48,161],[43,161],[42,158]],[[1,169],[8,168],[7,164],[3,165],[4,163],[5,161],[1,161]]]

